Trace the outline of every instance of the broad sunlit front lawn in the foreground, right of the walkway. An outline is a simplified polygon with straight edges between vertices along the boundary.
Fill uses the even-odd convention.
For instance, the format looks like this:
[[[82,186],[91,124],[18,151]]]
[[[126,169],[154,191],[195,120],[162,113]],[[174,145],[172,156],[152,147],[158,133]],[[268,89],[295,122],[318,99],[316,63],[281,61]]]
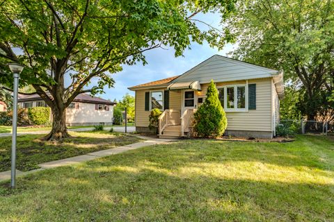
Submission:
[[[333,221],[334,140],[184,140],[38,172],[0,195],[0,221]]]

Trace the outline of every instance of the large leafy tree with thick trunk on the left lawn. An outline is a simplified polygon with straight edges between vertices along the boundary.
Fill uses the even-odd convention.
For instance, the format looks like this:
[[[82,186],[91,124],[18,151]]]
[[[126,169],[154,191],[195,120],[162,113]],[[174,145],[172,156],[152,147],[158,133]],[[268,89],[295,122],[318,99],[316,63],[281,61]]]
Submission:
[[[233,9],[234,0],[0,1],[1,83],[10,87],[7,62],[25,65],[21,83],[33,85],[52,110],[47,139],[68,137],[65,108],[78,94],[112,87],[109,73],[145,64],[144,51],[167,46],[181,56],[191,41],[221,45],[229,36],[196,15],[214,10],[225,17]],[[97,84],[88,89],[92,78]]]

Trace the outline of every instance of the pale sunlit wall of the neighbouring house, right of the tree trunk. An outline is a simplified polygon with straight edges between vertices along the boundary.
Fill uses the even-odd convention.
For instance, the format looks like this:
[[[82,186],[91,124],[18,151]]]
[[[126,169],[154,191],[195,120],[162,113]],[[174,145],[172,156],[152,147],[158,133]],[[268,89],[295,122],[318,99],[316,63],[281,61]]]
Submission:
[[[66,109],[66,123],[111,123],[112,121],[113,105],[109,105],[109,111],[95,110],[95,103],[79,103],[79,109]]]

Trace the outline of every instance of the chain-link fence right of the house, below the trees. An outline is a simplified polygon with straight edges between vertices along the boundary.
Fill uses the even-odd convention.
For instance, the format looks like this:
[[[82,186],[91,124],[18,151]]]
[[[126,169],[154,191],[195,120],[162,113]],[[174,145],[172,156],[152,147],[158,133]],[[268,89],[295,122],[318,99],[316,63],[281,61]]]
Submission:
[[[296,134],[321,134],[321,135],[334,135],[334,122],[329,121],[305,121],[298,119],[282,119],[280,120],[280,126],[289,128]]]

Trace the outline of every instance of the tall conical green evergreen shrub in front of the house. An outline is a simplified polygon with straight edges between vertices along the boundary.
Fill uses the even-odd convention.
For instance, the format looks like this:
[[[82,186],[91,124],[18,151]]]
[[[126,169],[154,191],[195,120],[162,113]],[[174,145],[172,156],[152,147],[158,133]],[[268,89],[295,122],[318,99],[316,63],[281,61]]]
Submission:
[[[198,137],[220,137],[228,126],[225,111],[218,99],[218,90],[211,80],[207,87],[207,99],[194,114]]]

